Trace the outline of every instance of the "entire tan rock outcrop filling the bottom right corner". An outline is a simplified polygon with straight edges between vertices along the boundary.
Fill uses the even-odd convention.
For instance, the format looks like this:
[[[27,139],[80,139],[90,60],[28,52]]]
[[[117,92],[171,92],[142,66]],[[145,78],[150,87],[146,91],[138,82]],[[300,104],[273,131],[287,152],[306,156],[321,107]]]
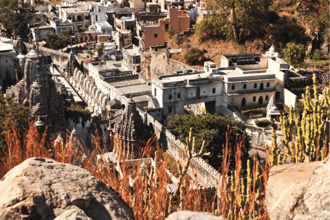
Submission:
[[[270,170],[266,206],[271,220],[330,220],[330,159]]]

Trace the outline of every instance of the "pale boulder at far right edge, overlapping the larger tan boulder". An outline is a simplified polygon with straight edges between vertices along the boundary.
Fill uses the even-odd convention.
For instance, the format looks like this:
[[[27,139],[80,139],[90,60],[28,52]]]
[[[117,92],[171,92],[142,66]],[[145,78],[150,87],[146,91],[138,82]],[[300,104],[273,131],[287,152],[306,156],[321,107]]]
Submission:
[[[330,157],[313,172],[304,196],[313,219],[330,219]]]

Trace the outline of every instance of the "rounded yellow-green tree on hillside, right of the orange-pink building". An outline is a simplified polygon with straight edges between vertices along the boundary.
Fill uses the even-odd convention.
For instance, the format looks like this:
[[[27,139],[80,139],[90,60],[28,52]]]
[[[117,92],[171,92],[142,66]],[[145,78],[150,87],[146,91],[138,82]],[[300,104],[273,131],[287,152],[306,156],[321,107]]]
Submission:
[[[223,36],[232,39],[232,31],[228,25],[228,20],[220,14],[207,14],[203,20],[195,25],[195,33],[198,36]]]

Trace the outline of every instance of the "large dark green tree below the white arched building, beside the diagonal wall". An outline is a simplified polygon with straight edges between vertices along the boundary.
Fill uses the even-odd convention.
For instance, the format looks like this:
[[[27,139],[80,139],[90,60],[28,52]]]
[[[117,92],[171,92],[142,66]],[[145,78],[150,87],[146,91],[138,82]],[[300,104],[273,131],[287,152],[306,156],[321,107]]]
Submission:
[[[173,117],[169,117],[169,119],[170,121],[166,125],[166,129],[169,129],[171,133],[184,143],[186,142],[186,137],[189,136],[190,128],[192,128],[192,136],[195,136],[195,148],[197,152],[200,151],[203,140],[206,141],[205,152],[203,151],[203,153],[210,152],[210,155],[203,157],[203,159],[214,168],[219,170],[222,165],[222,150],[223,144],[225,144],[225,133],[228,131],[228,125],[231,131],[229,143],[231,144],[232,151],[230,152],[230,159],[234,162],[234,148],[240,137],[243,138],[245,146],[242,151],[243,157],[245,160],[248,159],[250,137],[245,133],[245,124],[243,122],[236,121],[228,115],[221,117],[210,113],[201,115],[190,113],[181,118],[179,115],[174,115]]]

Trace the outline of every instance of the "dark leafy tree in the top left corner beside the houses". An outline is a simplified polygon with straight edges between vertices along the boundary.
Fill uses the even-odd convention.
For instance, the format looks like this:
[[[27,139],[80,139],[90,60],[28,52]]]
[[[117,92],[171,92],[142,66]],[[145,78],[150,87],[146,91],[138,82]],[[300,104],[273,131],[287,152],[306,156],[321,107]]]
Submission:
[[[22,38],[28,36],[30,29],[28,23],[31,16],[25,10],[32,7],[19,2],[18,0],[0,0],[0,23],[3,26],[3,32],[9,36],[16,34]]]

